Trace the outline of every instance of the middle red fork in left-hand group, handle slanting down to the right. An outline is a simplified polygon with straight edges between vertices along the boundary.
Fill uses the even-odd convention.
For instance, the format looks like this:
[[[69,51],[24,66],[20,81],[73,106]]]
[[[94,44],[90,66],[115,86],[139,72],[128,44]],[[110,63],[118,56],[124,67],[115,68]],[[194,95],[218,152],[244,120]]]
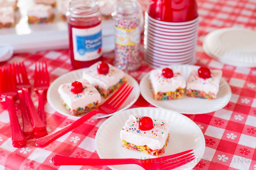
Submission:
[[[27,102],[27,107],[29,108],[29,113],[32,119],[33,128],[35,129],[36,136],[45,136],[47,135],[45,124],[42,122],[33,101],[30,97],[29,88],[31,85],[29,79],[27,78],[27,71],[23,63],[13,63],[10,64],[12,69],[12,74],[16,77],[16,88],[22,90]]]

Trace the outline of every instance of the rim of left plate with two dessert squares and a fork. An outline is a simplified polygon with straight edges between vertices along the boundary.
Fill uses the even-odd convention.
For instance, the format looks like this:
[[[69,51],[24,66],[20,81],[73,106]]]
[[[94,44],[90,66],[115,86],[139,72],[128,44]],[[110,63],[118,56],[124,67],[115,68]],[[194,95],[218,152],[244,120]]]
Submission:
[[[86,67],[86,68],[80,68],[80,69],[77,69],[77,70],[72,70],[72,71],[69,71],[61,76],[59,76],[57,79],[55,79],[49,86],[48,90],[47,90],[47,95],[46,95],[46,99],[47,99],[47,102],[50,104],[50,106],[55,110],[57,111],[59,114],[61,115],[64,115],[64,116],[67,116],[67,117],[70,117],[70,118],[76,118],[76,119],[79,119],[80,116],[73,116],[73,115],[68,115],[66,113],[62,113],[62,112],[59,112],[57,109],[57,107],[55,107],[55,105],[53,104],[53,102],[51,101],[51,98],[50,98],[50,91],[52,90],[52,88],[54,87],[54,84],[56,84],[56,82],[58,82],[60,79],[62,79],[63,77],[65,77],[67,74],[73,74],[75,72],[82,72],[83,70],[86,70],[88,69],[89,67]],[[129,78],[131,78],[133,81],[135,81],[135,86],[138,86],[138,92],[136,93],[135,95],[135,98],[132,100],[131,103],[129,103],[127,106],[125,106],[124,108],[122,108],[121,110],[118,110],[117,112],[120,112],[120,111],[124,111],[124,110],[127,110],[129,107],[131,107],[139,98],[140,96],[140,86],[139,86],[139,83],[137,82],[137,80],[135,78],[133,78],[131,75],[127,74],[127,73],[124,73],[125,76],[128,76]],[[98,117],[95,117],[93,119],[99,119],[99,118],[105,118],[105,117],[109,117],[109,116],[112,116],[114,114],[116,114],[117,112],[114,112],[113,114],[109,114],[109,115],[104,115],[104,116],[98,116]]]

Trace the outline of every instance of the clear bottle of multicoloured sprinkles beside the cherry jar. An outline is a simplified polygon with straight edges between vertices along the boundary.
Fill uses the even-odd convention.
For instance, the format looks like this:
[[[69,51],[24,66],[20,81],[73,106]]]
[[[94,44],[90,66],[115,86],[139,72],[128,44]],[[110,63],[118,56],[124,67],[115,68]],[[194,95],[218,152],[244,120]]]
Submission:
[[[115,58],[114,66],[125,72],[140,68],[141,6],[135,0],[120,0],[114,5]]]

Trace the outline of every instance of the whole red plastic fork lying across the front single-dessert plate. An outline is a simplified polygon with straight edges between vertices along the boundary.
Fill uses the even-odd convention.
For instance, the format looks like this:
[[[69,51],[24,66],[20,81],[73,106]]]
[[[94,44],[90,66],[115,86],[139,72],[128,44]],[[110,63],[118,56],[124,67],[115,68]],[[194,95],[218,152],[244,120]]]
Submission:
[[[136,164],[142,166],[146,170],[170,170],[180,167],[193,161],[194,153],[187,154],[193,150],[184,151],[178,154],[169,155],[160,158],[151,159],[90,159],[90,158],[71,158],[61,155],[54,155],[52,162],[54,165],[124,165]],[[187,154],[187,155],[184,155]],[[191,156],[192,155],[192,156]]]

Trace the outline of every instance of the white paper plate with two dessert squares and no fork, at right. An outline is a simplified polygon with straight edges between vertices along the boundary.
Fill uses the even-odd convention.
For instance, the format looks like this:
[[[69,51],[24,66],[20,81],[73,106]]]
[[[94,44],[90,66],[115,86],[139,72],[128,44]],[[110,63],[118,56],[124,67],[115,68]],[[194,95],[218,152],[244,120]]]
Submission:
[[[166,66],[165,66],[166,67]],[[162,68],[165,68],[162,67]],[[180,66],[167,66],[171,69],[180,68],[182,74],[184,75],[186,81],[188,76],[191,73],[192,69],[198,68],[199,66],[193,65],[180,65]],[[183,114],[204,114],[217,111],[227,105],[231,98],[231,89],[229,84],[224,78],[221,79],[219,85],[219,92],[216,99],[207,100],[192,98],[187,95],[183,95],[181,99],[175,100],[154,100],[153,94],[150,90],[150,79],[148,72],[140,81],[140,90],[143,98],[147,100],[148,103],[152,104],[155,107],[167,108],[169,110],[177,111]]]

